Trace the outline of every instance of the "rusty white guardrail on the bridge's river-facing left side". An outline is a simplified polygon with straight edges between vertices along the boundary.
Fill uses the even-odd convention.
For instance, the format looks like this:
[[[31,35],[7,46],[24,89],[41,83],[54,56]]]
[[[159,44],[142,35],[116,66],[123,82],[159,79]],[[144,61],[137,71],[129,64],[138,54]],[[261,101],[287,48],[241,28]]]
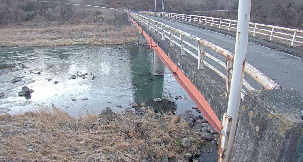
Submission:
[[[168,39],[170,42],[170,46],[178,46],[181,49],[181,55],[185,55],[185,53],[191,54],[193,57],[198,59],[198,69],[202,70],[204,69],[204,66],[207,66],[211,70],[213,70],[215,73],[217,73],[219,76],[221,76],[226,81],[226,93],[225,95],[228,96],[230,91],[230,84],[231,84],[231,75],[233,72],[233,60],[234,60],[234,54],[227,51],[226,49],[223,49],[215,44],[212,44],[211,42],[208,42],[204,39],[201,39],[199,37],[196,37],[194,35],[191,35],[187,32],[183,32],[179,29],[175,29],[169,25],[165,25],[161,22],[155,21],[153,19],[149,19],[145,16],[138,15],[132,12],[126,12],[128,15],[130,15],[135,21],[140,22],[141,24],[148,27],[148,29],[152,30],[153,32],[156,32],[157,35],[162,36],[162,40]],[[174,32],[178,33],[179,35],[175,35]],[[185,38],[194,40],[197,42],[197,47],[187,41],[185,41]],[[175,39],[175,40],[174,40]],[[188,45],[185,47],[185,45]],[[190,48],[188,48],[190,47]],[[205,47],[217,52],[218,54],[225,56],[226,63],[215,58],[214,56],[208,54],[205,52]],[[196,55],[195,53],[191,52],[191,50],[197,51]],[[210,65],[208,62],[205,61],[205,57],[208,57],[212,59],[213,61],[217,62],[219,65],[223,66],[226,69],[226,75],[216,69],[214,66]],[[227,70],[228,69],[228,70]],[[275,83],[273,80],[265,76],[263,73],[261,73],[258,69],[251,66],[248,62],[246,62],[245,65],[245,72],[251,76],[256,82],[258,82],[263,89],[277,89],[281,88],[277,83]],[[248,90],[255,90],[246,80],[243,80],[243,85]],[[243,92],[246,90],[243,89]],[[242,99],[244,98],[244,93],[242,93]]]

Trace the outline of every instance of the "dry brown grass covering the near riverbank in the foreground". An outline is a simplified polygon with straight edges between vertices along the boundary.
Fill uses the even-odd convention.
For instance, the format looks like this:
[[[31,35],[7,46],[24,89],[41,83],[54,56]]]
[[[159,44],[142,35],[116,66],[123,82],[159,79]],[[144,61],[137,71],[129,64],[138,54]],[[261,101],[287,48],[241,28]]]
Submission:
[[[55,108],[40,106],[35,112],[0,116],[0,161],[140,161],[151,150],[161,158],[185,160],[186,152],[194,153],[202,141],[191,127],[178,116],[155,120],[148,116],[115,114],[117,122],[98,123],[94,113],[84,111],[78,119]],[[164,123],[166,129],[155,129]],[[176,125],[178,123],[178,126]],[[191,140],[191,146],[182,147],[182,138]],[[163,143],[159,145],[157,138]],[[132,147],[135,153],[128,153]],[[32,150],[30,150],[32,149]],[[185,160],[186,161],[186,160]]]

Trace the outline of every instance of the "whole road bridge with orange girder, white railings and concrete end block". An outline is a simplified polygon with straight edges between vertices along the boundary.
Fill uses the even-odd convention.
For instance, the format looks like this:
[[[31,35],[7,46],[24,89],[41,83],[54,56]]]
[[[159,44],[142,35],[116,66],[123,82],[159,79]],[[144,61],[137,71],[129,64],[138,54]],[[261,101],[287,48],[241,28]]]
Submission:
[[[231,161],[303,159],[303,95],[300,93],[303,92],[303,76],[300,75],[303,59],[300,52],[294,56],[248,42],[233,154],[226,158],[226,149],[230,147],[226,137],[230,136],[232,118],[225,112],[234,73],[236,39],[211,31],[207,25],[237,29],[234,21],[204,18],[203,22],[203,18],[194,15],[167,12],[126,13],[139,30],[139,42],[147,42],[155,51],[154,74],[163,75],[165,64],[224,139],[218,149],[220,161],[229,158]],[[277,27],[268,30],[266,26],[254,25],[250,27],[254,35],[264,31],[270,40],[281,39],[291,46],[302,43],[301,30],[288,29],[293,32],[290,34],[280,32]],[[266,33],[268,31],[270,34]],[[288,49],[283,45],[275,46]]]

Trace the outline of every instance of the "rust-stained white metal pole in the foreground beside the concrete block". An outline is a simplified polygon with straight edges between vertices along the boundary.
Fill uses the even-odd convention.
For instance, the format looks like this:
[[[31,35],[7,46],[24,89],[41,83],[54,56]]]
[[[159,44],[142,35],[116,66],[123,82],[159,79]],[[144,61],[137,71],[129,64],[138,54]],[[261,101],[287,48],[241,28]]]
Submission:
[[[239,0],[238,28],[236,36],[233,73],[231,78],[231,89],[229,93],[227,113],[225,113],[223,117],[223,129],[221,135],[222,149],[219,149],[225,155],[221,155],[219,161],[229,162],[232,154],[232,147],[234,144],[235,130],[237,126],[237,118],[244,77],[244,68],[248,43],[250,8],[251,0]]]

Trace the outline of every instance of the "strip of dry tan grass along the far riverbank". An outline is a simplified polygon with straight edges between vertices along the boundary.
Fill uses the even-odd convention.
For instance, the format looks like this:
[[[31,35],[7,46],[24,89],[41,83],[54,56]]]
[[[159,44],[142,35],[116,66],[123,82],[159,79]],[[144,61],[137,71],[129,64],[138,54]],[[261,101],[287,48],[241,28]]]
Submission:
[[[27,26],[30,26],[27,24]],[[137,42],[134,27],[100,24],[61,25],[42,28],[13,27],[0,28],[0,44],[4,46],[64,46],[105,45]]]

